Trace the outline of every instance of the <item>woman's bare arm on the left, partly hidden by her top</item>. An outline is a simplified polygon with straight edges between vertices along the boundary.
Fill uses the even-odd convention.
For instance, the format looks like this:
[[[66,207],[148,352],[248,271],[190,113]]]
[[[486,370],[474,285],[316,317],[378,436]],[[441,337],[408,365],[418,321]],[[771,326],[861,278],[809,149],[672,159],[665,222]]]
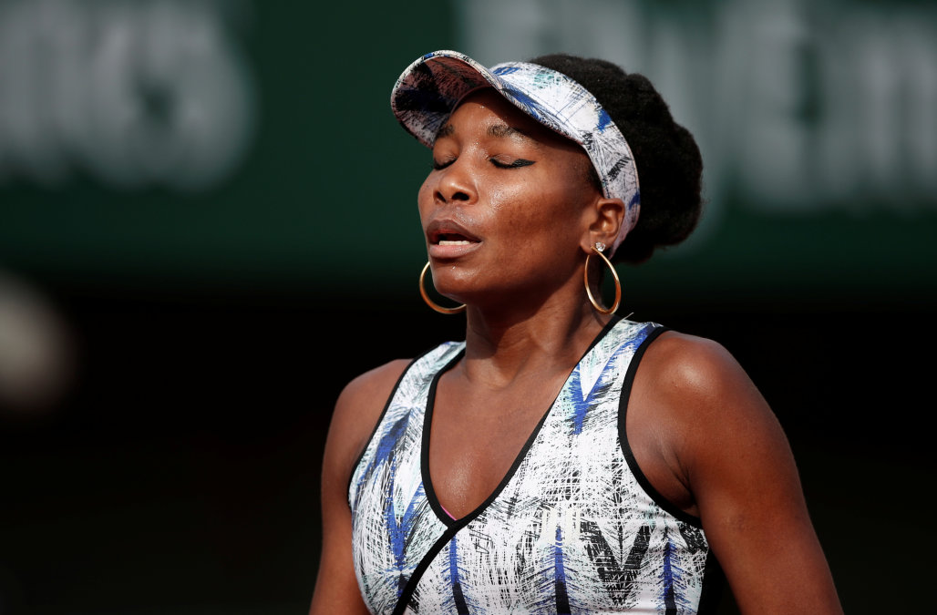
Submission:
[[[322,551],[310,614],[367,613],[351,558],[348,483],[394,384],[409,361],[395,360],[364,373],[338,396],[322,456]]]

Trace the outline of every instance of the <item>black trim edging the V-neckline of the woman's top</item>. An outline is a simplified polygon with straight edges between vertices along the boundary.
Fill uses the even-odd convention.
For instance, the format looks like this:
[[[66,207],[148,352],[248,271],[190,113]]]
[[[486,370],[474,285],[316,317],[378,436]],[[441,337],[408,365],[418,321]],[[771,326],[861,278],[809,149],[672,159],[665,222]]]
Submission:
[[[430,384],[429,391],[426,395],[426,406],[424,408],[423,434],[420,450],[420,473],[423,480],[426,500],[429,502],[430,507],[433,509],[433,512],[440,521],[442,521],[448,527],[453,527],[454,525],[464,525],[482,514],[488,506],[490,506],[495,500],[498,499],[498,495],[501,494],[501,491],[504,491],[504,488],[507,487],[508,483],[511,482],[514,474],[516,474],[517,468],[519,468],[521,463],[523,463],[523,461],[527,458],[530,447],[532,447],[534,442],[536,442],[537,436],[540,435],[540,432],[543,429],[543,424],[553,413],[553,408],[557,405],[559,396],[562,395],[563,391],[569,387],[570,378],[573,377],[573,373],[575,373],[576,368],[583,362],[583,359],[586,359],[588,354],[592,352],[596,344],[599,344],[599,342],[601,342],[602,339],[622,320],[623,318],[621,316],[613,316],[612,319],[602,327],[602,330],[596,334],[591,344],[588,345],[586,351],[583,352],[579,360],[577,360],[575,365],[573,365],[573,369],[570,370],[570,373],[566,374],[566,379],[563,381],[563,386],[559,388],[557,396],[553,399],[553,402],[547,406],[546,410],[543,412],[543,417],[537,421],[537,425],[533,428],[533,431],[530,433],[527,441],[524,443],[524,446],[521,447],[521,449],[517,452],[517,456],[514,458],[514,461],[508,468],[507,473],[505,473],[500,482],[498,482],[498,486],[495,487],[495,490],[492,491],[491,494],[488,495],[488,497],[486,497],[480,505],[476,506],[473,510],[468,512],[468,514],[459,517],[458,519],[452,517],[448,511],[446,511],[446,509],[439,503],[439,498],[436,495],[436,489],[433,487],[432,476],[429,472],[429,439],[430,433],[432,432],[433,408],[436,405],[436,390],[439,386],[439,378],[443,373],[453,369],[455,364],[465,356],[465,347],[456,353],[456,355],[450,359],[449,362],[446,363],[446,365],[441,370],[439,370],[438,373],[436,373],[436,375],[433,376],[433,381]]]

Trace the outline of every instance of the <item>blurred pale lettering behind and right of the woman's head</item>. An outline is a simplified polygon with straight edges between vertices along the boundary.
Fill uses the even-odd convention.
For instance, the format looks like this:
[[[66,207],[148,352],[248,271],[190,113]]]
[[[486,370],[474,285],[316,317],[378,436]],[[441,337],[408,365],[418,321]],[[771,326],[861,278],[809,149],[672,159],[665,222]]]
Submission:
[[[730,190],[768,212],[937,205],[937,6],[858,1],[456,3],[491,65],[570,51],[646,74],[703,150],[709,226]]]

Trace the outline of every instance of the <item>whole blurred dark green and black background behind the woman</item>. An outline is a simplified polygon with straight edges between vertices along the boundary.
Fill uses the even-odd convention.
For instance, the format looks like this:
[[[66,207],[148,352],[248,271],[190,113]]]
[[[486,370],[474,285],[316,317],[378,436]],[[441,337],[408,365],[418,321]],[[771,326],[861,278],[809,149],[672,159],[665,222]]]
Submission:
[[[655,82],[708,205],[619,312],[728,347],[847,612],[917,610],[935,35],[910,1],[0,0],[0,614],[305,612],[335,397],[463,335],[417,293],[429,156],[389,108],[437,49]]]

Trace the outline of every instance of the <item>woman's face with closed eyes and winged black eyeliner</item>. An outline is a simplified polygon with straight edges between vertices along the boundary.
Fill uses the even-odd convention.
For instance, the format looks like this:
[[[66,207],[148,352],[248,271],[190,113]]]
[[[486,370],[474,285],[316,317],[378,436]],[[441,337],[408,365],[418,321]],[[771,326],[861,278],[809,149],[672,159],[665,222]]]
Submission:
[[[494,90],[469,95],[439,130],[419,193],[439,292],[480,304],[573,282],[594,223],[590,205],[602,197],[589,165],[577,144]]]

